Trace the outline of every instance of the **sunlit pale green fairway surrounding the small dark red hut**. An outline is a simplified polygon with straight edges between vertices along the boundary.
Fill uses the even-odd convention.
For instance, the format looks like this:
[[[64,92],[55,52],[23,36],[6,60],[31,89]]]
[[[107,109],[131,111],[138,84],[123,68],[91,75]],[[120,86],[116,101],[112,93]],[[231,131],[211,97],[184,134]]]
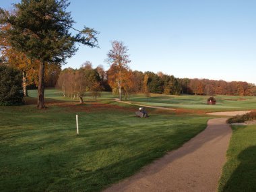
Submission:
[[[255,96],[214,96],[216,105],[207,105],[207,96],[193,95],[157,95],[152,94],[150,98],[145,96],[131,96],[131,102],[152,106],[164,106],[169,108],[187,108],[205,110],[207,112],[227,110],[247,110],[256,108]]]

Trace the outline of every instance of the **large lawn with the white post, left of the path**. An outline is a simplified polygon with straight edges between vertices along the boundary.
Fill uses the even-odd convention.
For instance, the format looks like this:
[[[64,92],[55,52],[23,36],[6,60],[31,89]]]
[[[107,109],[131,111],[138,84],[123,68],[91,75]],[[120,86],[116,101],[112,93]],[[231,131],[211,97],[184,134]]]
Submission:
[[[53,100],[59,97],[47,90],[45,110],[35,98],[0,106],[1,191],[100,191],[179,148],[209,119],[154,109],[136,118],[137,106],[111,102],[110,94],[83,105]]]

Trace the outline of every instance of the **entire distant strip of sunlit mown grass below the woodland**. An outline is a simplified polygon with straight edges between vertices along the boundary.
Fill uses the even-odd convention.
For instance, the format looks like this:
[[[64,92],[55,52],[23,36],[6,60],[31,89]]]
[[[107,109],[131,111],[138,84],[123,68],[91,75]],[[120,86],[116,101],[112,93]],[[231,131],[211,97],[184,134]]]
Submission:
[[[36,90],[30,90],[30,96],[36,97]],[[58,100],[72,100],[63,97],[60,90],[46,90],[46,98],[55,98]],[[84,97],[84,100],[92,100],[90,93]],[[207,96],[195,95],[164,95],[151,94],[146,97],[144,94],[131,94],[129,101],[135,104],[162,106],[167,108],[184,108],[191,110],[205,110],[205,112],[229,111],[229,110],[253,110],[256,109],[255,96],[214,96],[217,100],[216,105],[207,105]],[[113,100],[118,96],[113,96],[111,92],[102,92],[99,100]],[[76,100],[77,101],[77,100]]]

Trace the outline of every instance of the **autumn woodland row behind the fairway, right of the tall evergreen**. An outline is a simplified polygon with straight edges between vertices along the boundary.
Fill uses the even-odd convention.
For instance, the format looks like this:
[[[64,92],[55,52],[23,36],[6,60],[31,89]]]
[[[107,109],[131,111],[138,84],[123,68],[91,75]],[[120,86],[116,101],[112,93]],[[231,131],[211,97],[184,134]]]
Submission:
[[[93,69],[92,63],[86,62],[79,69],[67,68],[61,71],[57,87],[63,90],[64,96],[76,96],[86,91],[95,93],[102,90],[118,94],[118,86],[113,74],[115,73],[112,67],[107,71],[104,71],[101,65]],[[146,71],[143,73],[131,69],[127,69],[123,74],[122,90],[126,99],[131,93],[256,96],[256,86],[247,82],[177,78],[162,72]]]

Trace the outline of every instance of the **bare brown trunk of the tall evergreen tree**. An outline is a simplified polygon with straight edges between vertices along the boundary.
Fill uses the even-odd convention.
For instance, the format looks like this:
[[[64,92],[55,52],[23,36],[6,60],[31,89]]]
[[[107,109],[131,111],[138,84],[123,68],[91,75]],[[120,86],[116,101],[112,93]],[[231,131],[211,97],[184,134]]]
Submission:
[[[45,108],[44,106],[44,61],[40,61],[40,67],[39,67],[37,107]]]

